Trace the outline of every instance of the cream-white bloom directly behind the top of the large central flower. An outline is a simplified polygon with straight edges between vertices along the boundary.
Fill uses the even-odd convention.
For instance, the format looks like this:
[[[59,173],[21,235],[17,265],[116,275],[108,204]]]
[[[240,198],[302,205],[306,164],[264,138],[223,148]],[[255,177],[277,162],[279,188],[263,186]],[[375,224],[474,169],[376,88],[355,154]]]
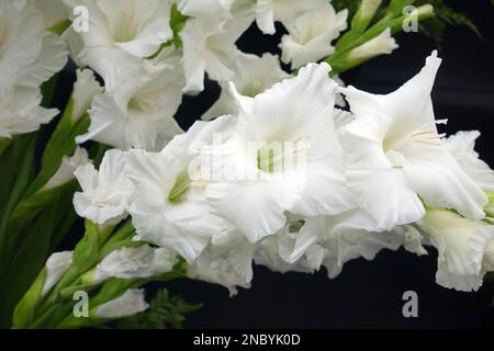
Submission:
[[[256,97],[274,83],[291,76],[280,67],[278,57],[271,54],[256,55],[240,54],[233,67],[235,76],[231,79],[237,91],[246,97]],[[231,93],[227,82],[220,82],[222,93],[214,105],[202,116],[211,120],[227,114],[238,114],[238,106]]]

